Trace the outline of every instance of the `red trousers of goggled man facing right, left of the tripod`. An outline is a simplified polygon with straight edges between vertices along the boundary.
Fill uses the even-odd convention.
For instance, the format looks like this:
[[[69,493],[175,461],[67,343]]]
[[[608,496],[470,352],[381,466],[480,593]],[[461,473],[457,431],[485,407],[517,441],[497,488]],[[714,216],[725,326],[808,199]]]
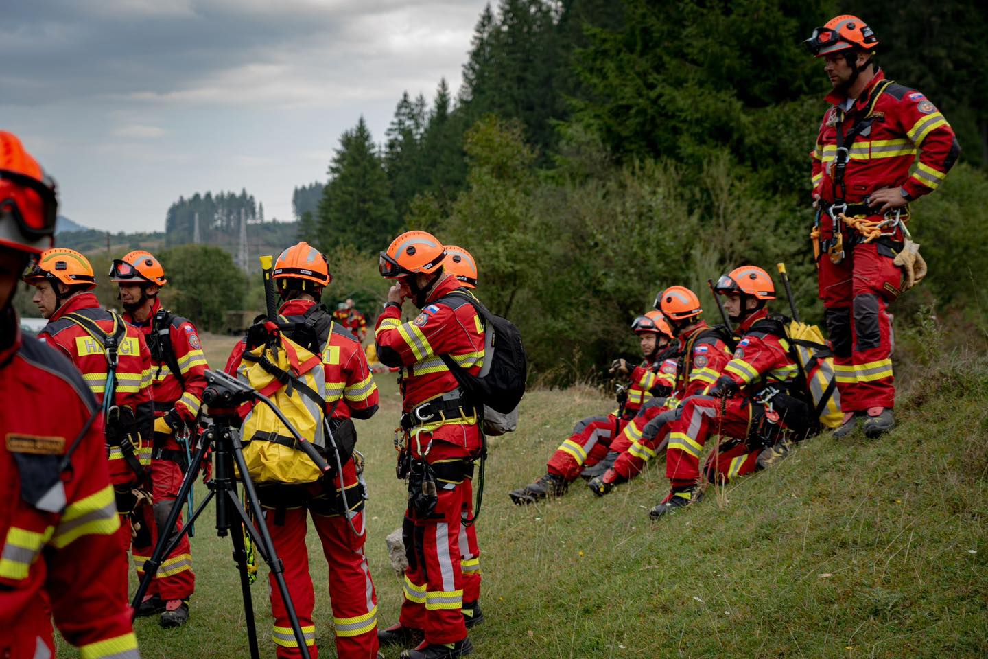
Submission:
[[[137,578],[144,577],[144,561],[151,557],[154,546],[158,542],[159,532],[168,521],[173,506],[182,506],[185,502],[177,502],[175,497],[182,486],[182,469],[172,460],[151,460],[151,500],[153,506],[141,507],[141,517],[145,528],[150,534],[137,535],[133,539],[133,564],[137,570]],[[129,529],[127,530],[129,532]],[[172,536],[182,531],[182,516]],[[150,538],[149,544],[141,542]],[[192,571],[192,547],[189,536],[183,535],[182,540],[175,545],[170,554],[165,556],[161,567],[147,589],[147,595],[157,595],[164,601],[188,600],[196,589],[196,575]]]

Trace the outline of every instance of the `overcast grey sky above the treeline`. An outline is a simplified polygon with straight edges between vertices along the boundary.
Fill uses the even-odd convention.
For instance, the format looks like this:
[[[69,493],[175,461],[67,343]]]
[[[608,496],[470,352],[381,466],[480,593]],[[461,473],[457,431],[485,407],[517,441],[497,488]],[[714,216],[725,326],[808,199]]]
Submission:
[[[246,188],[289,220],[340,133],[402,91],[458,89],[486,0],[2,0],[0,128],[87,226],[163,230],[180,195]]]

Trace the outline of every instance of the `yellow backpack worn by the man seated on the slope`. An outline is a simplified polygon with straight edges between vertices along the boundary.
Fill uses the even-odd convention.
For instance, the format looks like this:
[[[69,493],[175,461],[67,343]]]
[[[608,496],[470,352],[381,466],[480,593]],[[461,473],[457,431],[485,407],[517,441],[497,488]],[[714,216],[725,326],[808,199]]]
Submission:
[[[824,428],[837,428],[844,420],[841,394],[837,391],[834,354],[816,325],[784,319],[782,326],[793,357],[806,376],[806,386],[813,399],[814,412]]]

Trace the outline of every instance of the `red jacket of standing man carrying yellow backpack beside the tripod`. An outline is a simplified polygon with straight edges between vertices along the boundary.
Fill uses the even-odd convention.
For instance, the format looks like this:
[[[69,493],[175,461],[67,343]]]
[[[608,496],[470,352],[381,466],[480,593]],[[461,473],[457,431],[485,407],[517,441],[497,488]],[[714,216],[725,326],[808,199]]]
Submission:
[[[300,321],[315,302],[289,300],[279,309],[285,320]],[[367,357],[361,344],[348,330],[334,321],[323,342],[322,366],[326,373],[326,413],[332,410],[333,419],[370,419],[377,411],[377,385],[371,376]],[[233,347],[226,362],[226,372],[236,376],[247,345],[240,341]]]

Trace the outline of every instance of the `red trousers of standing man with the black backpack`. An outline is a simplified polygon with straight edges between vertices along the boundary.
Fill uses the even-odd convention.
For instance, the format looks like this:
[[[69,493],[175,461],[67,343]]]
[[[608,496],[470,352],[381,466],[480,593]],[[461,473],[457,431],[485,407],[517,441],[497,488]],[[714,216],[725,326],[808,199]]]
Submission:
[[[434,433],[423,432],[409,444],[416,459],[433,465],[452,464],[479,453],[480,435],[475,425],[455,424],[441,426]],[[466,638],[460,611],[466,589],[462,561],[463,556],[474,555],[476,540],[471,548],[469,535],[476,531],[464,530],[462,520],[464,511],[472,514],[472,489],[466,478],[458,483],[437,480],[436,485],[438,501],[431,514],[420,516],[411,504],[405,510],[402,530],[408,569],[399,621],[424,630],[428,643],[454,643]],[[467,541],[465,550],[460,546],[463,538]],[[479,595],[479,579],[474,584]]]

